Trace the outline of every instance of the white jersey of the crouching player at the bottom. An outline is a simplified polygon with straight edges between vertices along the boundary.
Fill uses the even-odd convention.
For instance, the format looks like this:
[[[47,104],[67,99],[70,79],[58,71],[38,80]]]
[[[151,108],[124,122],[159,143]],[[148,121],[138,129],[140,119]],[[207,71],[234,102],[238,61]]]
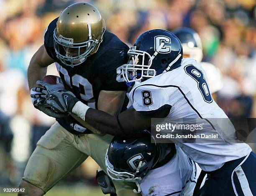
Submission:
[[[176,145],[177,153],[163,166],[150,170],[139,182],[144,196],[192,196],[201,172],[197,163],[191,161]]]

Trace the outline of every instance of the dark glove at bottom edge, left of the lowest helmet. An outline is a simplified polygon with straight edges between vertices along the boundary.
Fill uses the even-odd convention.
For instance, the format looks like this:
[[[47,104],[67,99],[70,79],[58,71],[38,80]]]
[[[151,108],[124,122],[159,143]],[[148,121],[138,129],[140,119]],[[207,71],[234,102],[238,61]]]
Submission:
[[[103,170],[96,172],[96,180],[104,194],[116,195],[113,182]]]

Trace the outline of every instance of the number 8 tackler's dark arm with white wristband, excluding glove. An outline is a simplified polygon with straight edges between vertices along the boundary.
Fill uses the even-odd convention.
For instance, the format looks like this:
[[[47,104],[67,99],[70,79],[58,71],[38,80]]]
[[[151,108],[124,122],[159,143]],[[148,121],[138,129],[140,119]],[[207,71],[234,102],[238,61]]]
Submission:
[[[71,96],[69,96],[69,93],[60,95],[61,98],[64,96],[66,96],[68,111],[72,111],[72,113],[76,114],[83,121],[86,121],[90,126],[103,133],[113,136],[123,136],[145,130],[151,126],[151,117],[142,115],[134,109],[120,113],[117,118],[117,116],[112,116],[104,111],[90,108],[81,101],[77,101],[74,95],[72,95],[73,98],[68,98]],[[61,102],[64,101],[62,100]],[[52,106],[54,106],[54,104],[52,104]],[[163,118],[164,116],[162,112],[159,112],[158,115],[153,117]]]

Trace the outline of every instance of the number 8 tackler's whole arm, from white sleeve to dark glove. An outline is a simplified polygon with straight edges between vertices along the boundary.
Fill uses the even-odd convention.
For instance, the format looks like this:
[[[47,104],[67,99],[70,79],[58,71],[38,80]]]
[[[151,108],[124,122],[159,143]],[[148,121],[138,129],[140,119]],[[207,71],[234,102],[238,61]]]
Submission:
[[[76,114],[83,121],[86,121],[90,126],[96,128],[113,136],[128,135],[137,131],[142,131],[151,126],[151,118],[164,118],[166,117],[172,106],[168,104],[168,96],[165,91],[157,88],[158,90],[140,89],[136,92],[138,95],[137,101],[133,102],[137,110],[131,109],[120,113],[118,116],[112,116],[104,111],[95,110],[76,98],[76,96],[70,91],[53,92],[46,98],[47,104],[54,110],[58,111],[58,108],[66,108],[65,110],[69,113]],[[142,90],[142,91],[141,91]],[[147,96],[151,95],[151,103],[153,104],[155,95],[161,96],[162,102],[156,102],[151,104],[151,109],[148,106],[143,106],[143,97],[141,98],[141,92],[146,92]],[[136,95],[135,93],[135,95]],[[144,96],[144,95],[143,95]],[[144,96],[144,97],[145,97]],[[147,98],[146,97],[146,98]],[[153,100],[153,101],[152,101]],[[110,100],[109,100],[110,101]],[[167,104],[165,104],[167,103]]]

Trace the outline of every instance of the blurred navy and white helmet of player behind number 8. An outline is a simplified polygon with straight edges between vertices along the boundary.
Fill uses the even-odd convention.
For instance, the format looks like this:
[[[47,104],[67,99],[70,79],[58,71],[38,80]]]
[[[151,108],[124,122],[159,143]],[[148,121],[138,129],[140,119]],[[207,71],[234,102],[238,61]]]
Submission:
[[[183,55],[195,59],[198,63],[202,61],[202,43],[195,30],[187,27],[177,28],[172,31],[182,43]]]

